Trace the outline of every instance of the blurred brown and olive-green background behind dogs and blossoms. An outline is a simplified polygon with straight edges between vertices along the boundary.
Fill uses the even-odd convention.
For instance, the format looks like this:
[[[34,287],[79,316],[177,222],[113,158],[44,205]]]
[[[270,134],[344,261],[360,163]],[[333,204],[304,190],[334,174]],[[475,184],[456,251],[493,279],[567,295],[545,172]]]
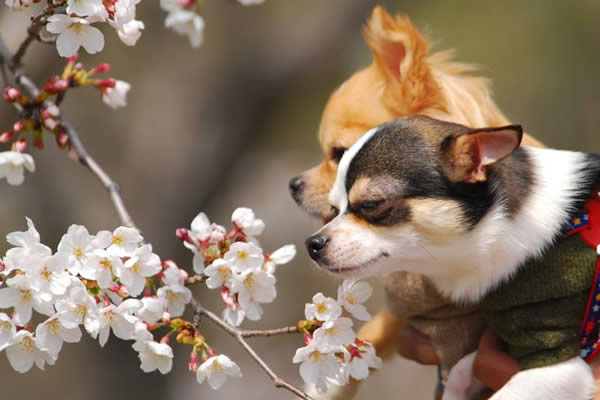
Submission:
[[[189,226],[199,211],[228,225],[241,205],[265,220],[261,241],[267,251],[286,243],[298,246],[295,261],[278,271],[278,299],[265,306],[263,321],[248,328],[294,323],[315,292],[335,295],[337,282],[317,271],[303,248],[319,221],[296,207],[287,182],[320,159],[316,133],[329,93],[371,61],[360,31],[375,4],[408,14],[435,49],[455,48],[457,60],[481,65],[500,108],[526,131],[552,147],[600,151],[598,1],[266,0],[241,7],[206,0],[200,49],[163,27],[165,14],[157,3],[138,6],[146,31],[137,46],[122,45],[106,26],[105,50],[81,57],[88,67],[111,63],[110,75],[132,84],[128,107],[113,111],[93,89],[83,88],[69,92],[62,109],[91,154],[120,183],[134,220],[163,259],[191,264],[175,229]],[[0,8],[0,34],[13,50],[25,35],[27,18]],[[25,61],[40,84],[64,65],[53,47],[40,44]],[[10,106],[0,104],[0,130],[15,117]],[[72,223],[92,232],[118,225],[106,192],[87,170],[51,142],[32,154],[38,170],[25,184],[0,183],[2,234],[23,230],[23,217],[29,216],[42,241],[55,248]],[[6,248],[2,241],[0,250]],[[221,310],[218,293],[201,287],[194,293]],[[369,308],[375,313],[381,306],[378,291]],[[222,331],[208,322],[205,330],[209,342],[244,374],[218,392],[196,383],[182,346],[175,345],[173,371],[162,376],[139,369],[130,343],[111,338],[101,349],[87,338],[65,345],[57,365],[46,372],[17,374],[0,356],[0,397],[292,398],[275,389]],[[301,383],[291,363],[300,337],[253,343],[282,377]],[[368,379],[359,397],[430,399],[434,382],[435,369],[396,358]]]

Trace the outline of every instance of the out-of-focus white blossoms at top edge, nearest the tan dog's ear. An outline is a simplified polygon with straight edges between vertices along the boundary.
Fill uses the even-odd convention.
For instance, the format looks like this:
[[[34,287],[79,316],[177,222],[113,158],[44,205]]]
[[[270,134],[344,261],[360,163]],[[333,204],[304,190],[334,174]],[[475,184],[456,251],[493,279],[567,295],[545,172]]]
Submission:
[[[8,0],[7,0],[8,1]],[[245,6],[262,4],[264,0],[238,0]],[[166,11],[165,26],[187,36],[193,47],[200,47],[204,39],[204,19],[200,16],[201,0],[160,0]]]

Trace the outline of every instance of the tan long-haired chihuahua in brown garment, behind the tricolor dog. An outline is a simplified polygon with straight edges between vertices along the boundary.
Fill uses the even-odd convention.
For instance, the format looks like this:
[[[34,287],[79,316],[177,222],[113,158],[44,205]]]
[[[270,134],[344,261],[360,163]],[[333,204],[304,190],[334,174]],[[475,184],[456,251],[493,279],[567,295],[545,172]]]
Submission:
[[[472,128],[507,125],[491,98],[488,81],[469,75],[470,65],[451,61],[451,51],[430,53],[430,43],[405,16],[376,7],[364,38],[373,61],[345,81],[330,97],[319,128],[323,161],[290,180],[295,201],[325,222],[335,216],[328,201],[344,152],[366,131],[395,118],[421,114]],[[523,143],[541,146],[525,135]],[[385,279],[388,309],[359,332],[379,353],[389,347],[405,322],[431,338],[440,358],[442,380],[451,367],[477,347],[483,329],[479,313],[456,307],[424,277],[398,272]],[[356,383],[330,392],[349,399]]]

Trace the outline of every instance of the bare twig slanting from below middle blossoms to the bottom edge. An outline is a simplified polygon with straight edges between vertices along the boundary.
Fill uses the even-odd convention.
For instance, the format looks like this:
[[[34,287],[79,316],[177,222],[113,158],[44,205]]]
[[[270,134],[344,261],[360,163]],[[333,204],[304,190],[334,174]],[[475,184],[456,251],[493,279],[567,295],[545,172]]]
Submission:
[[[194,309],[194,314],[195,314],[194,315],[194,325],[196,325],[196,326],[198,325],[198,322],[200,321],[201,316],[206,316],[208,319],[210,319],[212,322],[214,322],[217,326],[222,328],[225,332],[227,332],[231,336],[233,336],[233,338],[244,348],[244,350],[246,350],[246,352],[250,355],[250,357],[252,357],[254,359],[254,361],[256,361],[256,363],[267,373],[267,375],[269,375],[269,378],[271,378],[275,387],[289,390],[290,392],[294,393],[296,396],[298,396],[301,399],[305,399],[305,400],[312,399],[308,394],[304,393],[302,390],[298,389],[294,385],[287,383],[283,379],[279,378],[279,376],[277,376],[277,374],[275,374],[275,372],[273,372],[273,370],[267,365],[267,363],[265,363],[265,361],[258,354],[256,354],[256,351],[254,351],[254,349],[248,344],[248,342],[246,342],[246,340],[244,339],[244,336],[242,334],[243,331],[240,331],[239,329],[232,327],[227,322],[225,322],[221,318],[219,318],[217,315],[210,312],[206,308],[202,307],[202,305],[200,305],[200,303],[198,303],[198,301],[196,299],[192,298],[191,304],[192,304],[192,308]],[[252,332],[252,331],[247,331],[247,332]]]

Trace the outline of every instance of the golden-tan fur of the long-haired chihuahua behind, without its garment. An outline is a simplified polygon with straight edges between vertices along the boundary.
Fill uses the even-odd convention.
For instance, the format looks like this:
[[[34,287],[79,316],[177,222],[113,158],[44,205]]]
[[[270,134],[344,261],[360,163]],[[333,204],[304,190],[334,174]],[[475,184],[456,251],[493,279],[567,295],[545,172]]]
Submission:
[[[491,98],[488,81],[467,75],[475,68],[451,61],[451,51],[430,54],[429,42],[408,17],[393,17],[376,7],[364,37],[373,52],[373,62],[331,95],[319,128],[324,160],[298,177],[301,190],[294,194],[309,213],[323,218],[333,216],[328,193],[341,157],[339,149],[349,148],[367,130],[408,114],[473,128],[508,124]],[[542,147],[528,135],[523,143]],[[399,281],[392,280],[396,284]],[[414,288],[407,293],[414,294]],[[404,324],[386,310],[364,325],[358,336],[372,342],[378,353],[385,353]]]

